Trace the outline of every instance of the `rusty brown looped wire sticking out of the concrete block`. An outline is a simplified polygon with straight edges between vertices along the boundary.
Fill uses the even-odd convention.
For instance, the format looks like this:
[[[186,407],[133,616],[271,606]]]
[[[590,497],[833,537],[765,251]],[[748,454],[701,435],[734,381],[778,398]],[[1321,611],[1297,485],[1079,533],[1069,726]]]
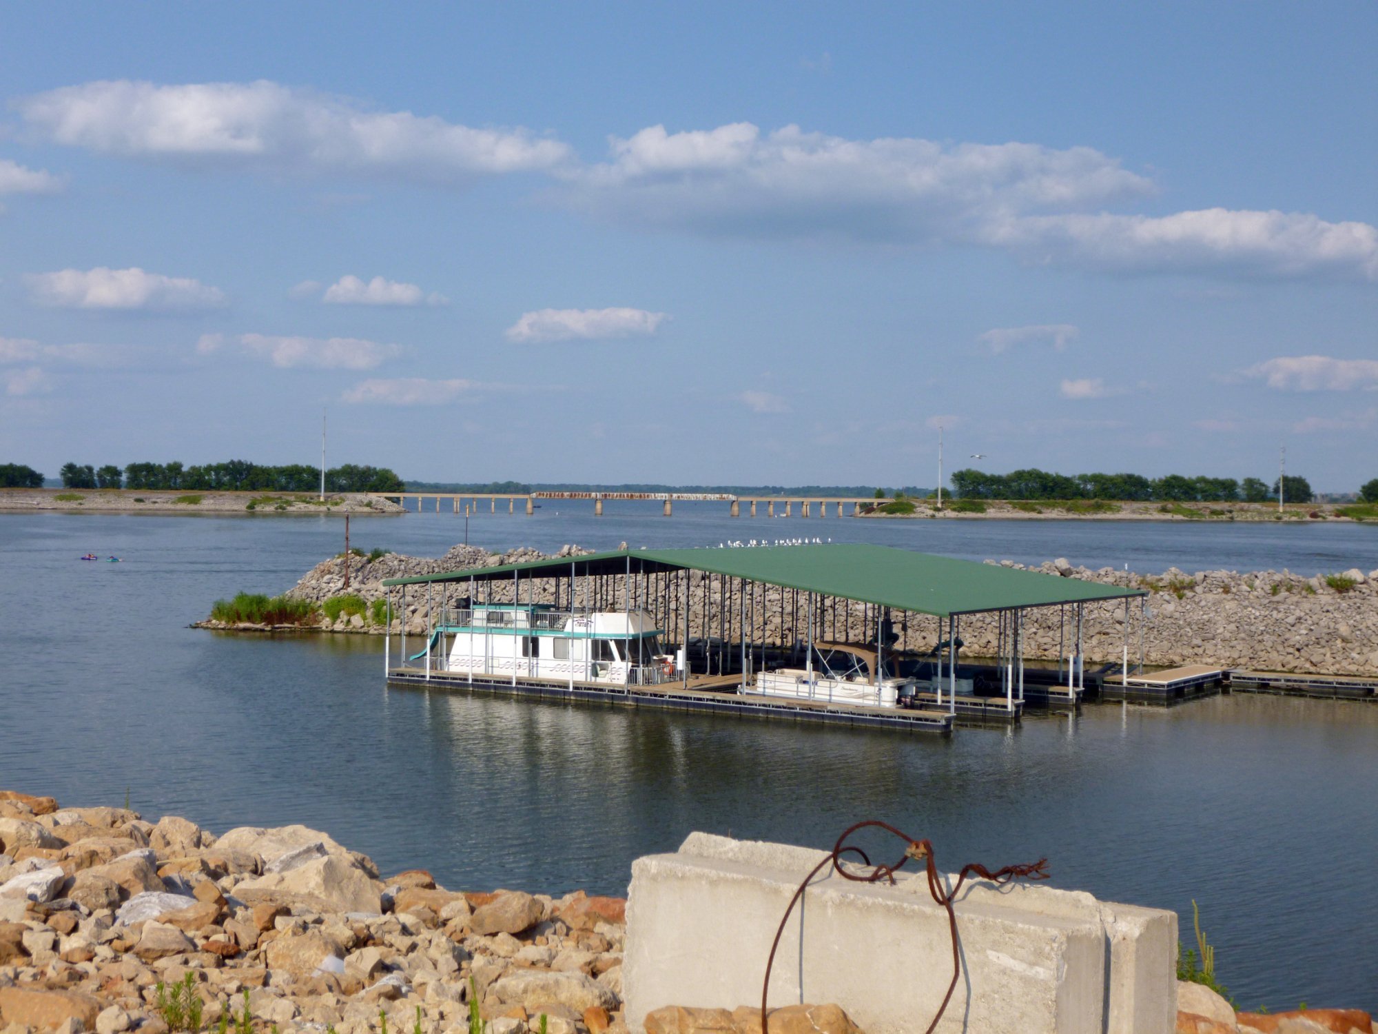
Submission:
[[[864,830],[868,827],[876,827],[893,833],[900,840],[905,841],[904,853],[893,866],[879,864],[872,866],[871,859],[867,853],[854,845],[846,842],[857,830]],[[870,867],[870,873],[857,874],[849,873],[842,867],[843,855],[857,855],[861,859],[861,864]],[[894,826],[887,822],[879,822],[878,819],[867,819],[865,822],[858,822],[854,826],[849,826],[843,830],[842,835],[838,837],[836,844],[832,845],[832,851],[824,856],[819,864],[816,864],[809,875],[803,878],[799,888],[794,892],[790,899],[790,907],[784,910],[784,917],[780,920],[779,928],[776,928],[774,940],[770,942],[770,957],[766,960],[766,977],[761,984],[761,1034],[768,1034],[769,1027],[766,1016],[766,998],[770,994],[770,969],[774,966],[774,954],[780,947],[780,937],[784,935],[784,926],[790,921],[791,913],[794,913],[794,906],[799,903],[803,898],[803,892],[809,889],[813,880],[823,871],[824,867],[832,866],[832,871],[841,875],[843,880],[852,880],[858,884],[878,884],[881,881],[894,882],[894,874],[904,869],[908,862],[923,862],[927,878],[929,878],[929,893],[933,900],[941,904],[948,914],[948,932],[952,939],[952,982],[948,984],[947,994],[943,995],[943,1004],[938,1006],[937,1015],[933,1017],[933,1023],[929,1024],[925,1034],[933,1034],[938,1026],[938,1020],[943,1019],[943,1013],[947,1012],[948,1002],[952,1001],[952,991],[956,990],[958,977],[962,975],[962,953],[958,947],[956,939],[956,911],[952,909],[952,902],[962,892],[962,884],[966,882],[969,875],[980,877],[981,880],[989,880],[996,885],[1003,885],[1011,880],[1047,880],[1047,859],[1040,858],[1032,864],[1021,866],[1005,866],[1005,869],[996,869],[994,873],[983,864],[971,863],[962,866],[962,871],[958,874],[956,884],[954,884],[951,892],[943,888],[943,880],[938,875],[937,863],[933,860],[933,844],[926,840],[915,840],[907,833],[901,833]]]

